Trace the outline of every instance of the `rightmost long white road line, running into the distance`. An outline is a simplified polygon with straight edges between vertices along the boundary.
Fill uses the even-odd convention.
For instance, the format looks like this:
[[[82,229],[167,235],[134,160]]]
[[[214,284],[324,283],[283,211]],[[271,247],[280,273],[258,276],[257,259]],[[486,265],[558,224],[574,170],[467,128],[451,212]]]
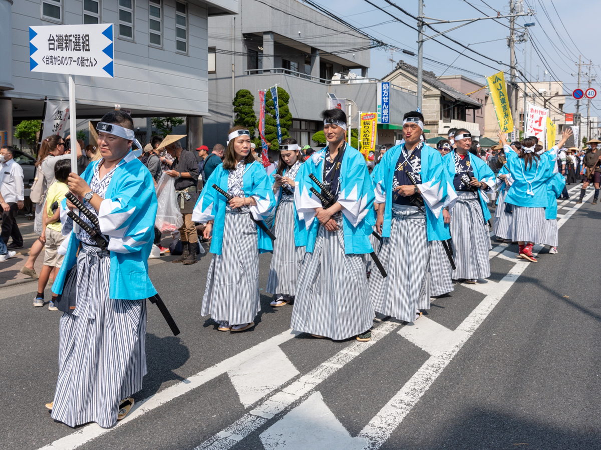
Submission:
[[[591,192],[587,199],[593,195]],[[584,204],[584,203],[583,203]],[[566,217],[558,221],[557,226],[563,226],[566,221],[572,217],[572,215],[582,206],[582,204],[574,205],[572,211],[566,214]],[[537,246],[537,251],[542,247]],[[407,334],[409,341],[412,341],[418,346],[421,346],[424,350],[430,353],[430,358],[422,365],[421,368],[405,383],[403,388],[382,407],[382,409],[374,416],[371,421],[365,425],[365,428],[361,430],[358,437],[367,439],[367,445],[364,450],[377,450],[382,446],[384,442],[391,436],[395,428],[400,425],[403,419],[407,416],[410,410],[415,406],[419,399],[426,393],[426,391],[432,386],[432,383],[438,378],[445,367],[451,362],[451,359],[457,355],[457,352],[463,347],[463,344],[468,341],[472,334],[478,329],[478,326],[484,319],[490,314],[490,311],[498,304],[501,298],[507,293],[513,283],[517,281],[517,278],[525,271],[529,263],[522,260],[516,260],[516,265],[511,268],[509,273],[503,277],[498,283],[489,281],[486,284],[472,284],[468,285],[472,289],[479,290],[480,292],[487,293],[486,297],[480,304],[472,311],[462,324],[457,327],[453,332],[453,338],[451,343],[453,346],[451,349],[444,349],[444,340],[449,339],[448,332],[442,332],[440,337],[436,337],[432,334],[432,331],[436,327],[430,326],[429,343],[425,343],[424,338],[419,338],[410,334],[410,329],[404,327],[400,334]],[[421,320],[421,319],[420,319]],[[419,325],[419,322],[416,322]],[[428,327],[426,327],[428,328]],[[404,331],[407,329],[407,331]],[[415,331],[418,331],[416,329]],[[440,331],[440,330],[438,330]],[[457,334],[455,335],[455,333]],[[415,333],[416,334],[416,333]],[[436,347],[436,344],[432,342],[434,339],[442,341],[441,347]],[[421,344],[421,345],[420,345]]]

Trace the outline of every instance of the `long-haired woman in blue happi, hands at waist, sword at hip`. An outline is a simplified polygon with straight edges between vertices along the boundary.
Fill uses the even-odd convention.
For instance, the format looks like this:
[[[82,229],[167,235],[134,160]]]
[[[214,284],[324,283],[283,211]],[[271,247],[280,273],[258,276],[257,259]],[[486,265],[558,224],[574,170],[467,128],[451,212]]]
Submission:
[[[214,184],[233,198],[228,202]],[[207,224],[204,238],[213,236],[201,314],[210,314],[219,331],[243,331],[255,325],[261,310],[259,253],[273,247],[251,214],[263,220],[274,205],[267,172],[251,154],[249,131],[239,125],[231,128],[224,162],[207,180],[192,213],[192,220]]]

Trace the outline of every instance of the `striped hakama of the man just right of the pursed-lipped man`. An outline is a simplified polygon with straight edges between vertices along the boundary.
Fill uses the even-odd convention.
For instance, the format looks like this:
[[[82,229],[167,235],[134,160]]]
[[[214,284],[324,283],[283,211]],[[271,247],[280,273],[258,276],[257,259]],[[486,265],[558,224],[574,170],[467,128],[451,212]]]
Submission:
[[[490,277],[490,235],[477,192],[457,191],[450,231],[456,269],[453,280]]]

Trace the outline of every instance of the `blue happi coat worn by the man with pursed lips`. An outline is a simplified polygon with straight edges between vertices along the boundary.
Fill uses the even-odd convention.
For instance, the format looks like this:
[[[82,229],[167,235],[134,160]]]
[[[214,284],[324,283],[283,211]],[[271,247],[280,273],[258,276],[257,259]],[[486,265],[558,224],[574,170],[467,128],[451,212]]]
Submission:
[[[390,237],[392,224],[392,183],[398,158],[404,143],[395,145],[383,156],[373,171],[374,194],[377,203],[385,203],[382,236]],[[428,241],[446,241],[451,238],[448,224],[444,223],[441,210],[447,199],[448,182],[442,166],[441,154],[428,145],[421,148],[421,184],[419,192],[426,205],[426,231]]]

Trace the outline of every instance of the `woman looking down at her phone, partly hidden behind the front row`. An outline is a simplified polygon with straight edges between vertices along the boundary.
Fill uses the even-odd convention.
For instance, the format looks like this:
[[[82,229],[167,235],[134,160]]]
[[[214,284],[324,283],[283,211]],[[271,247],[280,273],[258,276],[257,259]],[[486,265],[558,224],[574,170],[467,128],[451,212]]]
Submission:
[[[305,158],[296,139],[283,139],[279,145],[278,169],[270,176],[276,206],[273,215],[273,256],[265,290],[276,295],[272,307],[281,307],[294,300],[302,261],[305,258],[307,228],[294,208],[296,174]]]

